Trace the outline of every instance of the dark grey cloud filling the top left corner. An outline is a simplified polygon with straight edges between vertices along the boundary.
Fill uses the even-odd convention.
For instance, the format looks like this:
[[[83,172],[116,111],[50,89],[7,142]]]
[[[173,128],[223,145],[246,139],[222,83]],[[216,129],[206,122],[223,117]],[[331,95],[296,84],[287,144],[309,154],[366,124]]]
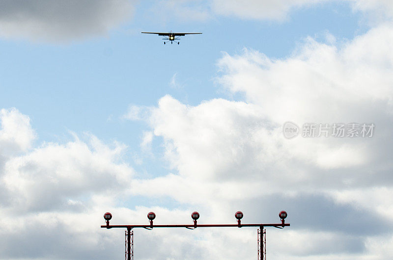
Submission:
[[[128,20],[134,0],[2,0],[0,36],[69,42],[105,35]]]

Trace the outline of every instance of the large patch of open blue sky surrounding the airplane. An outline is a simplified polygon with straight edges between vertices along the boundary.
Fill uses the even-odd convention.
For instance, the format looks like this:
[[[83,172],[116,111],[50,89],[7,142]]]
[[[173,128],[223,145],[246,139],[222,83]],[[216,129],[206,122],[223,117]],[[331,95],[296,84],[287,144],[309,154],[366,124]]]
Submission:
[[[129,104],[155,105],[166,94],[191,105],[233,98],[214,84],[221,52],[251,48],[283,58],[307,36],[325,41],[329,32],[346,41],[367,29],[361,15],[340,2],[296,8],[284,21],[212,17],[188,22],[168,14],[164,23],[147,19],[152,5],[139,3],[134,17],[101,37],[71,43],[3,39],[1,104],[28,111],[42,141],[56,140],[67,129],[91,131],[105,140],[130,142],[131,135],[135,141],[137,132],[128,129],[133,126],[123,127],[119,120]],[[204,34],[169,47],[158,36],[139,34],[142,30]],[[176,88],[170,86],[174,75]]]

